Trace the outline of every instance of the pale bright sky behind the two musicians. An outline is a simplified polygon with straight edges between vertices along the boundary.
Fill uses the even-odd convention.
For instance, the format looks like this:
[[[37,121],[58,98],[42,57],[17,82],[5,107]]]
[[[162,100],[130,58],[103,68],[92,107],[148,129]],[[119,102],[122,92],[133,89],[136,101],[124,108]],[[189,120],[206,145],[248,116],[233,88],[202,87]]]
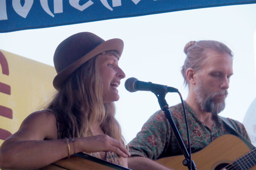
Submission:
[[[125,48],[120,67],[126,78],[119,86],[116,117],[127,142],[160,107],[151,92],[130,93],[124,82],[129,77],[178,88],[186,99],[180,67],[191,40],[217,40],[234,52],[226,108],[221,116],[243,122],[256,97],[255,39],[256,4],[193,9],[142,17],[131,17],[0,34],[0,49],[53,66],[57,45],[72,34],[90,31],[105,40],[121,38]],[[256,34],[256,33],[255,33]],[[180,102],[178,94],[167,94],[169,106]]]

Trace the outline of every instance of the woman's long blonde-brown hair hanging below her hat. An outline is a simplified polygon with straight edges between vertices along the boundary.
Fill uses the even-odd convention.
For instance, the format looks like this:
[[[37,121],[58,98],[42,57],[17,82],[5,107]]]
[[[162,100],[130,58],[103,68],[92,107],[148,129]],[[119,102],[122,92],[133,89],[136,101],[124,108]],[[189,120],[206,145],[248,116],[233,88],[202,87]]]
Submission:
[[[116,56],[117,53],[105,51],[102,54]],[[98,56],[95,56],[74,71],[57,91],[47,109],[61,118],[60,122],[64,127],[63,137],[93,136],[92,126],[99,121],[105,134],[125,144],[120,125],[114,117],[114,103],[103,104],[103,87],[98,63]]]

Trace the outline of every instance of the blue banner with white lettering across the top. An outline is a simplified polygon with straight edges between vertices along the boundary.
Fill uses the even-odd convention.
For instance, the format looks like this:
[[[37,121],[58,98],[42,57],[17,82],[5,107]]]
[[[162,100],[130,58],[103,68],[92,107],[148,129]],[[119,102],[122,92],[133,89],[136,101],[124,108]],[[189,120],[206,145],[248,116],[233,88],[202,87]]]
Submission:
[[[0,33],[256,0],[0,0]]]

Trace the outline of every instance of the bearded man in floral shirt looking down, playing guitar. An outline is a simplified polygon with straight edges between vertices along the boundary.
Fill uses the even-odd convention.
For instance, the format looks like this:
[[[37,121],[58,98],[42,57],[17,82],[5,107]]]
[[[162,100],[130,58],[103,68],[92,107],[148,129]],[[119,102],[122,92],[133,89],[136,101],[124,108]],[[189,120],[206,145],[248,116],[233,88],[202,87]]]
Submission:
[[[224,100],[233,74],[233,53],[223,43],[210,40],[191,41],[186,44],[184,52],[187,57],[181,73],[185,85],[189,87],[184,105],[194,153],[219,136],[232,133],[218,113],[225,107]],[[188,148],[182,105],[172,106],[169,110]],[[233,119],[229,121],[242,136],[250,140],[244,125]],[[154,113],[128,146],[131,153],[128,167],[133,170],[169,170],[154,160],[182,154],[163,111]]]

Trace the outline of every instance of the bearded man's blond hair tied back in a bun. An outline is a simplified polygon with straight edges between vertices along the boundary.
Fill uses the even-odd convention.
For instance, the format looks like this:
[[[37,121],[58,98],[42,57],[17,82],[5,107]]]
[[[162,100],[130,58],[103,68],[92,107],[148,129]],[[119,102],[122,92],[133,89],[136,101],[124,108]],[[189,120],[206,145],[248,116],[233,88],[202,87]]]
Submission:
[[[214,40],[201,40],[201,41],[190,41],[184,47],[184,53],[186,59],[184,65],[181,67],[181,74],[184,78],[184,84],[189,85],[189,81],[186,77],[186,71],[188,68],[193,68],[195,71],[199,71],[203,65],[210,51],[215,51],[219,54],[229,54],[233,57],[233,52],[227,45],[222,42]]]

